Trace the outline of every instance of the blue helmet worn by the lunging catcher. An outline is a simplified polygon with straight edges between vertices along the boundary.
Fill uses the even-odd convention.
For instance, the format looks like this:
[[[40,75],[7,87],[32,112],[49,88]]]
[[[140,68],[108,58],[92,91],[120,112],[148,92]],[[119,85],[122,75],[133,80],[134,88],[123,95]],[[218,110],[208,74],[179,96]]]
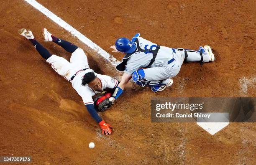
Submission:
[[[115,41],[115,47],[118,51],[124,53],[133,53],[137,46],[135,43],[132,43],[128,38],[118,38]]]

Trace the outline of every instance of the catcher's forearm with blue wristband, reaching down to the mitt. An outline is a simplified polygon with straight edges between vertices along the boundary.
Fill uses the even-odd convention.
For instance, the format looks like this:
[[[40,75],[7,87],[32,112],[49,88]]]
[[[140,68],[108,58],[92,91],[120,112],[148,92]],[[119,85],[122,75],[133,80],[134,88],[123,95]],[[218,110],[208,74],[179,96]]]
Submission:
[[[122,93],[123,89],[125,89],[125,85],[131,80],[131,75],[124,73],[121,79],[121,82],[115,88],[115,91],[112,97],[109,98],[109,101],[114,103],[115,99],[117,99]]]

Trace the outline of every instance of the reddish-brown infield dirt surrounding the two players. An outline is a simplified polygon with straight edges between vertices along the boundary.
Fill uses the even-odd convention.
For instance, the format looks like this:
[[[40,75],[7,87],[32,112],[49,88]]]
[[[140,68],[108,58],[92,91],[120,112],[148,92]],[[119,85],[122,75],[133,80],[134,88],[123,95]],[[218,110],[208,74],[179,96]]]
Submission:
[[[216,62],[184,64],[174,85],[157,94],[128,87],[111,109],[100,113],[113,135],[102,136],[70,83],[38,55],[19,28],[38,41],[47,28],[88,49],[22,0],[0,6],[0,155],[31,155],[34,164],[255,164],[256,124],[230,123],[210,135],[195,123],[151,123],[152,97],[256,96],[255,83],[241,90],[240,79],[256,77],[256,6],[249,1],[68,1],[38,0],[111,53],[118,37],[141,33],[159,45],[196,49],[210,45]],[[54,43],[52,53],[69,58]],[[113,54],[121,60],[120,54]],[[96,72],[119,74],[89,53]],[[89,142],[95,148],[89,149]]]

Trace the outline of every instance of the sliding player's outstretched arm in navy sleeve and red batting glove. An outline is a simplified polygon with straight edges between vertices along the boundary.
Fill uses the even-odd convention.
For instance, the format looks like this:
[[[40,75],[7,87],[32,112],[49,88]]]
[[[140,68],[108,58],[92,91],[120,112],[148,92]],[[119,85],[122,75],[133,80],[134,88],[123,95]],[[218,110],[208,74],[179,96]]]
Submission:
[[[87,111],[90,113],[92,118],[100,125],[100,128],[102,130],[102,134],[109,135],[112,133],[111,128],[113,128],[110,124],[105,123],[104,120],[100,118],[100,116],[97,114],[93,104],[87,104],[86,105]]]

